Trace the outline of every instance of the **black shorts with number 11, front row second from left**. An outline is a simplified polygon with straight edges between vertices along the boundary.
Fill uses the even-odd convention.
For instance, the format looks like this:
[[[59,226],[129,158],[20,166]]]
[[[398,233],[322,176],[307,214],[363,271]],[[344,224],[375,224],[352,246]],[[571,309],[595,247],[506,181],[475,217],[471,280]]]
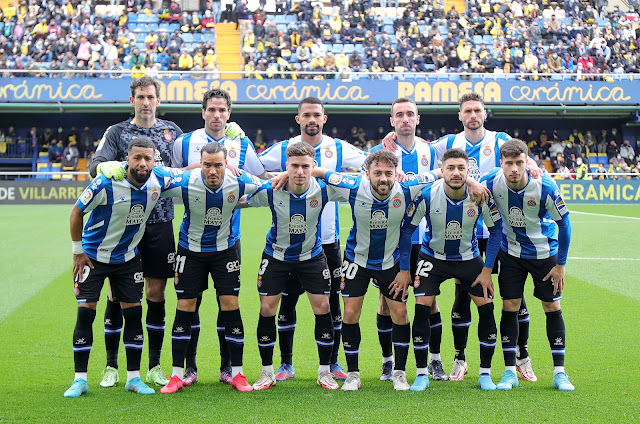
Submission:
[[[209,288],[209,275],[218,296],[237,296],[240,261],[233,247],[221,252],[192,252],[178,246],[173,284],[178,299],[195,299]]]

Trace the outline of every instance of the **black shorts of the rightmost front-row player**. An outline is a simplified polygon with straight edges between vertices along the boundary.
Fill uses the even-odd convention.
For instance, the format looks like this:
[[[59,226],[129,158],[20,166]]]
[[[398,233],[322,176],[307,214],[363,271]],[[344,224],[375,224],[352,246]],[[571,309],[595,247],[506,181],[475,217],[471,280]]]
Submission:
[[[503,299],[520,299],[524,295],[527,275],[533,279],[533,295],[543,302],[560,300],[562,295],[553,294],[553,281],[542,281],[556,266],[557,255],[547,259],[521,259],[500,250],[500,274],[498,285]]]

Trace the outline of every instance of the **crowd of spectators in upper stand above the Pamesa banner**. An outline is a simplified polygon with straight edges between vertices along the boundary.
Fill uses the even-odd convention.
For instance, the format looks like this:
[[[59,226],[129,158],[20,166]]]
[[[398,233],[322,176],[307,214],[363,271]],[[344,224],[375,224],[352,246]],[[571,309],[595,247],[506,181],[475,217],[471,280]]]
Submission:
[[[633,6],[623,12],[608,8],[607,0],[467,3],[459,12],[453,6],[445,10],[443,0],[380,0],[376,7],[372,0],[332,0],[333,7],[277,0],[276,13],[267,14],[265,1],[251,11],[246,0],[234,0],[221,11],[220,0],[202,0],[200,11],[190,12],[175,0],[164,0],[156,10],[150,0],[128,0],[125,6],[20,0],[15,10],[0,11],[0,67],[63,77],[108,77],[91,71],[111,70],[117,78],[132,69],[134,76],[178,70],[217,78],[215,26],[234,21],[250,78],[349,79],[360,72],[388,78],[440,71],[520,79],[569,73],[596,80],[601,73],[639,72]]]

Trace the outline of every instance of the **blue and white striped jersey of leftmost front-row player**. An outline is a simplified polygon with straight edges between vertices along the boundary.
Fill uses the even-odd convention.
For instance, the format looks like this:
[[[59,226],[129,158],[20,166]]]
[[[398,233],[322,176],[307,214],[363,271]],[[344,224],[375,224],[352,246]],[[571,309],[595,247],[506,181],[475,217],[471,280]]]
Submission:
[[[82,249],[95,261],[120,264],[133,259],[147,218],[162,192],[176,186],[171,168],[155,167],[142,187],[127,178],[115,181],[98,174],[76,205],[90,213],[82,232]]]

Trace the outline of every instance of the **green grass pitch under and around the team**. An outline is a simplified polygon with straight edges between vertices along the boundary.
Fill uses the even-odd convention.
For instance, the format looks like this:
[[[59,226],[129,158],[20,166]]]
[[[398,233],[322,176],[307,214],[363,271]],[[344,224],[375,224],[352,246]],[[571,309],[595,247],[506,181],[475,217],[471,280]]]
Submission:
[[[239,393],[217,382],[216,305],[206,292],[199,346],[199,378],[176,395],[140,396],[124,391],[124,348],[120,348],[120,378],[116,388],[98,386],[105,363],[102,319],[103,291],[94,325],[89,363],[90,392],[64,399],[73,379],[71,336],[76,302],[71,284],[70,206],[4,206],[0,209],[0,422],[639,422],[640,373],[640,208],[638,206],[578,206],[570,208],[573,238],[562,300],[567,325],[567,372],[573,393],[552,390],[552,363],[544,314],[527,285],[531,313],[529,342],[539,381],[522,383],[510,392],[485,393],[476,387],[478,371],[477,319],[471,327],[467,358],[470,371],[462,382],[432,382],[423,393],[394,393],[378,381],[380,348],[375,330],[377,293],[367,295],[361,320],[359,392],[328,392],[315,384],[317,350],[308,301],[300,299],[294,346],[295,380],[266,392]],[[180,216],[177,208],[176,216]],[[342,235],[349,214],[341,208]],[[612,215],[612,216],[605,216]],[[255,283],[259,258],[269,226],[267,210],[243,212],[243,267],[240,305],[245,324],[244,370],[249,381],[261,365],[255,331],[258,295]],[[176,219],[176,226],[179,224]],[[452,282],[443,284],[442,355],[448,371],[453,359],[449,313]],[[500,300],[496,301],[496,315]],[[473,308],[472,308],[473,309]],[[175,294],[167,288],[167,328],[171,328]],[[409,302],[413,316],[413,302]],[[278,349],[274,362],[278,365]],[[341,352],[340,361],[344,364]],[[143,370],[146,370],[146,353]],[[498,348],[492,376],[504,370]],[[162,366],[171,370],[170,331],[165,334]],[[410,352],[407,376],[415,376]]]

